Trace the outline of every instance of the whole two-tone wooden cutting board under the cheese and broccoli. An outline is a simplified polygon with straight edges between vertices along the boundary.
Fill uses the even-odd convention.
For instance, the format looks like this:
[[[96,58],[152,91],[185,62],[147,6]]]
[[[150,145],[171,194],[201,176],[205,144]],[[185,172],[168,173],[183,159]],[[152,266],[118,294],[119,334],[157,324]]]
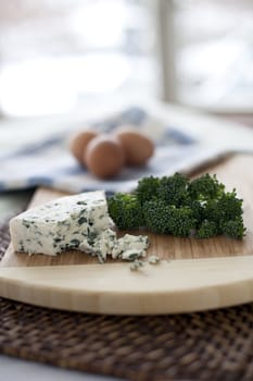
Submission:
[[[149,234],[148,255],[163,260],[136,272],[126,262],[98,265],[79,251],[27,256],[13,253],[10,245],[0,268],[0,295],[45,307],[117,315],[191,312],[252,302],[252,168],[253,156],[238,155],[207,169],[244,199],[243,241]],[[62,195],[38,189],[30,207]]]

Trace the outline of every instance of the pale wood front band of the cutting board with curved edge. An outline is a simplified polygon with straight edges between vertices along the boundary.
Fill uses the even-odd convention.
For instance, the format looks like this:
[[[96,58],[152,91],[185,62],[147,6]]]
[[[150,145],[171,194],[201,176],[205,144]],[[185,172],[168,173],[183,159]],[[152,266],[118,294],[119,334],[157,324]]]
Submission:
[[[2,268],[1,296],[38,306],[113,315],[200,311],[253,300],[253,257]]]

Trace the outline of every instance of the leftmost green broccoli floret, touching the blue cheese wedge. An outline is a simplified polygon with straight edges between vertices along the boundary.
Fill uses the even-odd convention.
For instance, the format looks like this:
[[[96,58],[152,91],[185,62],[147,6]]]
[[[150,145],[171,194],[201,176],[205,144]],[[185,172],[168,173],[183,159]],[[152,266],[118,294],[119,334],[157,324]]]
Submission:
[[[109,214],[118,229],[132,230],[143,226],[143,213],[136,195],[116,193],[107,198]]]

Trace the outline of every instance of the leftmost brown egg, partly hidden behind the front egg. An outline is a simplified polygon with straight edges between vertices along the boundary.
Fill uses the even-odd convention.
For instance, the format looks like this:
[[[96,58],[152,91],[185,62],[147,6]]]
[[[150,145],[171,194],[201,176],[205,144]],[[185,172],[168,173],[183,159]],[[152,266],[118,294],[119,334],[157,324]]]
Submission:
[[[77,133],[71,139],[71,144],[69,144],[71,152],[79,161],[80,164],[83,165],[86,164],[85,151],[86,151],[87,145],[90,143],[91,139],[93,139],[98,135],[99,133],[97,133],[96,131],[86,130]]]

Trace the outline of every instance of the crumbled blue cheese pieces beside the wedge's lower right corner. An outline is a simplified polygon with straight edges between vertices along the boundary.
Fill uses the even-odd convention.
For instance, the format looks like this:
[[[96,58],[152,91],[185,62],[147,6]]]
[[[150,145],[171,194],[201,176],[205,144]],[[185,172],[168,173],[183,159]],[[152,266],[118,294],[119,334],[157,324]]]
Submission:
[[[148,236],[125,234],[117,239],[116,233],[106,229],[93,237],[86,237],[79,245],[79,250],[97,256],[104,262],[107,256],[113,259],[135,260],[146,257],[149,247]]]

